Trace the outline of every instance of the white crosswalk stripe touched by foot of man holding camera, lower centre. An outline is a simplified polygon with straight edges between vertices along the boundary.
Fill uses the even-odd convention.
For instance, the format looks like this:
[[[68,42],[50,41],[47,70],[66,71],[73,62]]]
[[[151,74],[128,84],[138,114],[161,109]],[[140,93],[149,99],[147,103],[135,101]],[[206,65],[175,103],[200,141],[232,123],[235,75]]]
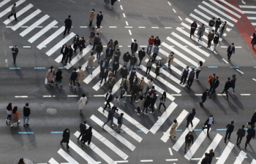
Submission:
[[[90,118],[91,118],[91,120],[96,122],[100,127],[102,127],[102,125],[104,124],[104,122],[99,120],[99,118],[94,116],[94,114]],[[129,141],[127,141],[127,139],[125,139],[120,134],[116,133],[116,131],[113,130],[112,128],[110,128],[108,125],[104,126],[104,130],[106,130],[108,133],[110,133],[111,136],[115,137],[118,141],[120,141],[122,144],[124,144],[130,150],[133,151],[135,149],[135,146],[133,144],[131,144]]]

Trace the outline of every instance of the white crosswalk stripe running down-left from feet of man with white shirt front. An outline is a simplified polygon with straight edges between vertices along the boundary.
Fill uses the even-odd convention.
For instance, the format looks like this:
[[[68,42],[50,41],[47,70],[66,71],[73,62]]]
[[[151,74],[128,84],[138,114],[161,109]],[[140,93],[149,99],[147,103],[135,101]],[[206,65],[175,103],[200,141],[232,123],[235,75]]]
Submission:
[[[211,128],[209,129],[209,131],[210,130]],[[193,155],[195,155],[195,152],[203,143],[203,140],[206,138],[206,136],[207,136],[206,130],[202,130],[200,135],[197,136],[197,139],[194,141],[194,144],[192,144],[192,146],[189,148],[189,151],[187,151],[186,155],[184,155],[184,157],[187,158],[187,160],[190,160],[193,157]]]

